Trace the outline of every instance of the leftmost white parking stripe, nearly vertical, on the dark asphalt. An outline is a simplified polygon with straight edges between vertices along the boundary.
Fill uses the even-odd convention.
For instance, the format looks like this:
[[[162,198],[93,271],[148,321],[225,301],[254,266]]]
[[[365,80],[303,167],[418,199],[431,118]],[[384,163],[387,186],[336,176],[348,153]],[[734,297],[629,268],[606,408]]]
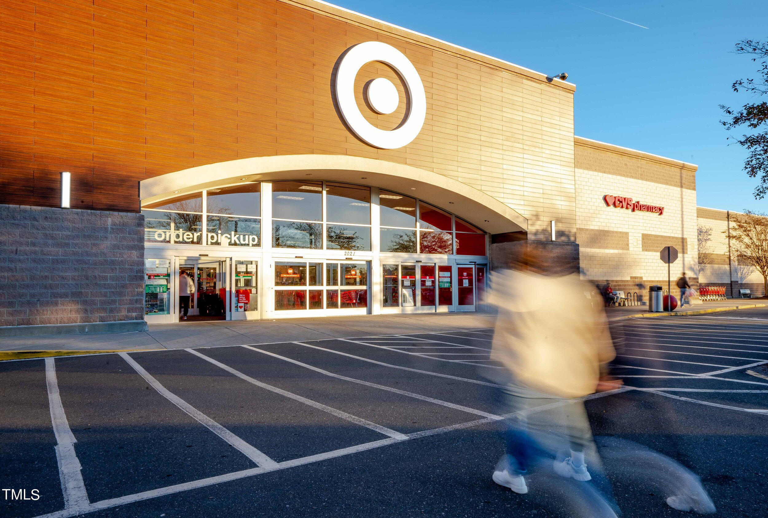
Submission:
[[[61,394],[58,391],[56,379],[56,364],[53,358],[45,358],[45,384],[48,387],[48,407],[51,411],[51,424],[56,436],[56,462],[58,477],[61,480],[61,493],[64,496],[64,506],[67,510],[81,510],[88,506],[88,492],[85,490],[83,473],[78,455],[74,451],[72,430],[61,404]]]

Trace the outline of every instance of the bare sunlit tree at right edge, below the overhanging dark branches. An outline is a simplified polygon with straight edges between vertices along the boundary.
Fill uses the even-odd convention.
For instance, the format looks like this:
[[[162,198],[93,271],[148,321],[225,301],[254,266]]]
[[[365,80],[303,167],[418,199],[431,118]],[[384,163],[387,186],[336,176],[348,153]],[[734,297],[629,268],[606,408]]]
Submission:
[[[768,215],[750,210],[734,214],[731,216],[730,239],[736,243],[738,264],[753,266],[763,275],[763,289],[768,295]]]

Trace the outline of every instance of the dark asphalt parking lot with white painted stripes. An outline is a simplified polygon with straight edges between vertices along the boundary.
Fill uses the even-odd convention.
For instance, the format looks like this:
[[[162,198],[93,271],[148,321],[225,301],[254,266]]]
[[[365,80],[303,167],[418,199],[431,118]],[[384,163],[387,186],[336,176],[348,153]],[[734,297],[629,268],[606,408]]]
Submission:
[[[697,473],[720,516],[765,516],[768,312],[631,318],[595,435]],[[2,516],[568,516],[491,480],[492,330],[0,363]],[[624,516],[684,516],[606,463]],[[9,494],[9,493],[8,493]]]

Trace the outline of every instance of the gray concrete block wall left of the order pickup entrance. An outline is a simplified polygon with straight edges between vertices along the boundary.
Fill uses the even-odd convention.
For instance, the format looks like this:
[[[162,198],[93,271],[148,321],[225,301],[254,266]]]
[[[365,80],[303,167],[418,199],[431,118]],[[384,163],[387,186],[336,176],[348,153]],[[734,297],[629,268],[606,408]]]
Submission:
[[[0,205],[0,326],[144,319],[144,216]]]

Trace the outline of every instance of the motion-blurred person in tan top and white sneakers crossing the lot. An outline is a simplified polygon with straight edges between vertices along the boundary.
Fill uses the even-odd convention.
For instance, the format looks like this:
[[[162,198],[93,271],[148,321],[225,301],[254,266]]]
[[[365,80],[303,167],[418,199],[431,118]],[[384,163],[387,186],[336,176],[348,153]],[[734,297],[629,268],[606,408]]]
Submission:
[[[579,482],[592,478],[588,458],[599,464],[579,398],[596,391],[614,348],[603,308],[584,297],[590,290],[530,248],[513,269],[492,273],[488,303],[498,318],[491,358],[505,367],[492,377],[505,384],[505,413],[514,413],[493,480],[515,493],[528,492],[525,475],[542,458]]]

